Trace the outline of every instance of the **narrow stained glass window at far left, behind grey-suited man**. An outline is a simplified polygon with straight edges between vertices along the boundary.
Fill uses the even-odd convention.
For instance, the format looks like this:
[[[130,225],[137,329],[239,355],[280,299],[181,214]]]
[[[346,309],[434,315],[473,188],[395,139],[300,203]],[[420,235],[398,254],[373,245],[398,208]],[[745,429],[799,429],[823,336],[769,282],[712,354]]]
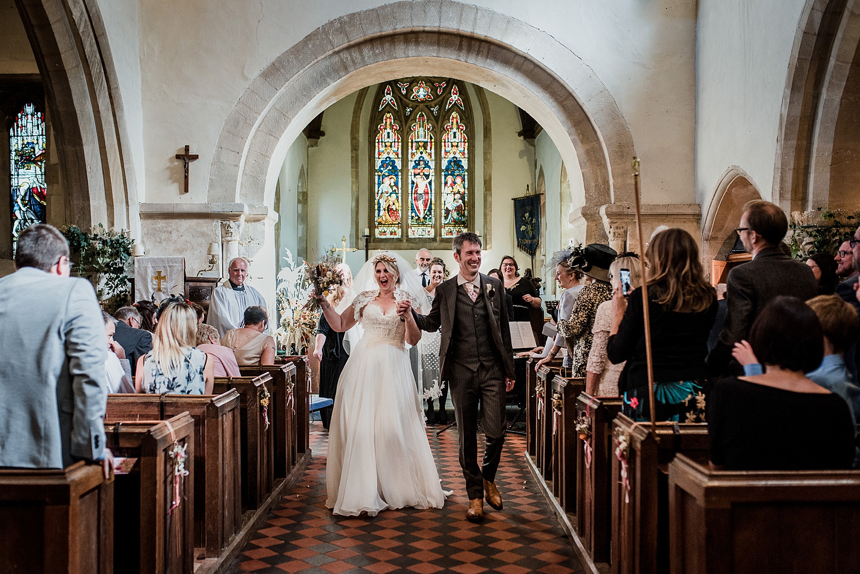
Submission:
[[[46,221],[45,147],[45,119],[25,104],[9,129],[13,248],[24,229]]]

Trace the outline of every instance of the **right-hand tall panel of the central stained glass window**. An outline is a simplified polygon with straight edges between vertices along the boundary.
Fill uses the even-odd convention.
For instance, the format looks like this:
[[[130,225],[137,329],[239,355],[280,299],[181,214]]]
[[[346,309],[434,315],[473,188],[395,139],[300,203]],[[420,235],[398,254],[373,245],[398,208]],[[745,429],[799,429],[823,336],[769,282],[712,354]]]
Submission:
[[[451,113],[442,134],[442,236],[453,237],[469,228],[469,143],[460,115]]]

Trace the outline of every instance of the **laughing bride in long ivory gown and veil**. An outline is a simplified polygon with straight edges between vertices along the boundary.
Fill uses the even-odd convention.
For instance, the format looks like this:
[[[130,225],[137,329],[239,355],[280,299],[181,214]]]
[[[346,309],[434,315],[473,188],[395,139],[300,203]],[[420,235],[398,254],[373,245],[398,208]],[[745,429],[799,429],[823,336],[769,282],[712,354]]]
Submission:
[[[445,504],[405,346],[417,344],[421,331],[411,313],[396,313],[404,300],[419,313],[429,311],[421,281],[409,271],[401,256],[379,253],[355,277],[353,288],[363,291],[342,314],[319,300],[333,330],[364,327],[341,373],[331,416],[326,506],[335,514],[376,516],[386,508]]]

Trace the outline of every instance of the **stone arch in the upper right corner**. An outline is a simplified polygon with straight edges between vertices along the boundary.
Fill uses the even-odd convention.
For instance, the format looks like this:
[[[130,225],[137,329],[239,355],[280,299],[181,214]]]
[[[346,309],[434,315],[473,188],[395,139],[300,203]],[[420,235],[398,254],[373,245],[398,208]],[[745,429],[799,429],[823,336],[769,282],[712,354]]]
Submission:
[[[830,203],[834,135],[858,42],[860,3],[807,0],[789,61],[773,178],[772,196],[786,211]]]

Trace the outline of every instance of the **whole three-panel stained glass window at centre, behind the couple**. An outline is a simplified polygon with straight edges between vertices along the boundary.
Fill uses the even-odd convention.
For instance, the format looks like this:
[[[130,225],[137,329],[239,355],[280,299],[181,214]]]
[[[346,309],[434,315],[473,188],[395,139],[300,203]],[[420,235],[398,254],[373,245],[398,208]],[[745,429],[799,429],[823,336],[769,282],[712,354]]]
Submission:
[[[374,239],[433,242],[468,230],[470,105],[464,86],[451,78],[402,78],[380,84],[376,101]]]

